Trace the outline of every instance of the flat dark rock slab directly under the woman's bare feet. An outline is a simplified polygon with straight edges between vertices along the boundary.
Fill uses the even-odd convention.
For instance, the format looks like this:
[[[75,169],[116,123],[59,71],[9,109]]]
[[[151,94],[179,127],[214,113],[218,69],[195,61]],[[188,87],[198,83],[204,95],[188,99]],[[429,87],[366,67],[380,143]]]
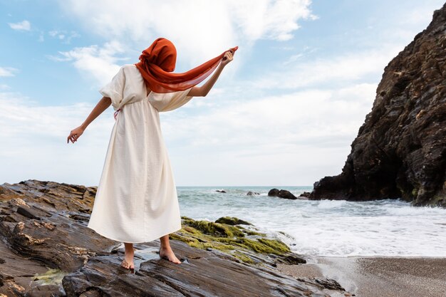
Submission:
[[[150,259],[135,273],[120,267],[123,254],[94,256],[63,278],[67,296],[328,296],[316,286],[264,267],[222,259],[213,251],[171,240],[182,264]],[[217,252],[218,253],[218,252]],[[135,251],[138,256],[138,249]],[[84,295],[83,295],[84,294]]]

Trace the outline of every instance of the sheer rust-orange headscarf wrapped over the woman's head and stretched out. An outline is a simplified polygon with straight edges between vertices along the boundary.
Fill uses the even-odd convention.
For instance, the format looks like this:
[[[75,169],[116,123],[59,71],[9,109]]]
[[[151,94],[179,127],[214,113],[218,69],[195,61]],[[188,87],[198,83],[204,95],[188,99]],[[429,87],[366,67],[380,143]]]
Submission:
[[[239,47],[230,48],[228,51],[234,53],[237,48]],[[172,93],[201,83],[217,68],[224,53],[185,73],[172,73],[177,61],[177,50],[171,41],[157,38],[151,46],[142,51],[140,62],[135,63],[135,66],[144,78],[147,88],[155,93]]]

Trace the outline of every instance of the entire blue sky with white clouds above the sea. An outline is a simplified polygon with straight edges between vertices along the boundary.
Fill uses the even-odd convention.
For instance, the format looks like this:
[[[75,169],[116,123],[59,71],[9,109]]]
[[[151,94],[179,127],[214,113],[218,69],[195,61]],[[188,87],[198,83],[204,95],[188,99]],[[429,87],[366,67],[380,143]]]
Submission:
[[[177,186],[311,186],[341,173],[385,66],[444,0],[0,0],[0,184],[98,185],[98,90],[158,37],[175,72],[239,50],[206,97],[160,113]]]

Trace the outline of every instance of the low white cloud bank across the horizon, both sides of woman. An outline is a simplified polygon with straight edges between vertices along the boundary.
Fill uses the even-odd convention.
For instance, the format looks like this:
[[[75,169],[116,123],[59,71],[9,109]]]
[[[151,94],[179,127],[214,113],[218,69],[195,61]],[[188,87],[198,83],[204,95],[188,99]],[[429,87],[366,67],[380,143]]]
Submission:
[[[371,108],[374,89],[361,84],[307,90],[219,108],[202,106],[199,115],[186,115],[184,108],[161,113],[177,183],[312,184],[323,174],[335,174]],[[209,99],[193,98],[187,105],[196,100]],[[0,105],[0,163],[9,168],[0,173],[1,180],[97,185],[113,110],[91,123],[78,142],[67,144],[69,132],[81,125],[92,104],[42,107],[0,93]]]

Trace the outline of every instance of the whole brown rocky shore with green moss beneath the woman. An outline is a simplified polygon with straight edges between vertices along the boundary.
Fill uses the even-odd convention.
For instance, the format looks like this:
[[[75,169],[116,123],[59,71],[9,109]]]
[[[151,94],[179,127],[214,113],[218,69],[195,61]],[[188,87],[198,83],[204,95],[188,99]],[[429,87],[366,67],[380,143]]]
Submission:
[[[87,228],[96,187],[29,179],[0,185],[0,296],[350,296],[336,281],[277,269],[304,265],[249,222],[182,217],[170,234],[182,264],[160,259],[159,239],[123,244]],[[341,294],[341,295],[339,295]]]

